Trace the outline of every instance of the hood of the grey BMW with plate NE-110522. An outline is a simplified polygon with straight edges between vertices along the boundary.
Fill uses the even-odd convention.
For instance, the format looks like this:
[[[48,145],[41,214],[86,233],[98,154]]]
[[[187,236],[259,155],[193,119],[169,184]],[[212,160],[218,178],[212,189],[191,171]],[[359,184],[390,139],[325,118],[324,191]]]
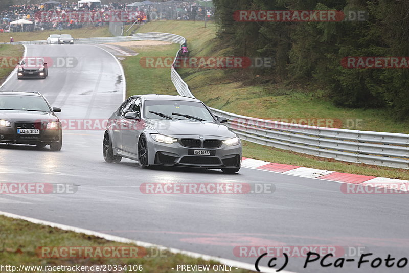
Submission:
[[[160,134],[170,135],[177,138],[186,135],[207,135],[211,137],[234,138],[236,134],[227,126],[218,122],[199,121],[176,121],[176,120],[149,120],[144,121],[146,126],[151,127]]]

